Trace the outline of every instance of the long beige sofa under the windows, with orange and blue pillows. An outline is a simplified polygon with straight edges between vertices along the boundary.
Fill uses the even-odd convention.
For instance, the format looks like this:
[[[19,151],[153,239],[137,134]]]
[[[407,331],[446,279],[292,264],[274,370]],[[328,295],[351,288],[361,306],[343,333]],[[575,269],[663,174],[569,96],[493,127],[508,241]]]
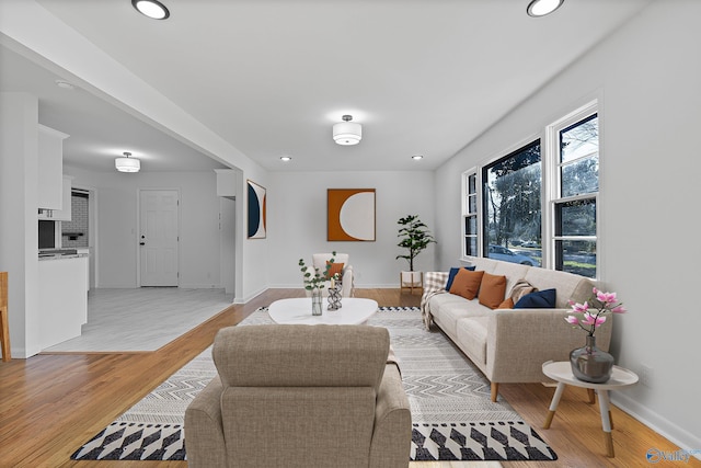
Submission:
[[[549,381],[542,373],[545,361],[568,361],[570,352],[585,344],[586,332],[573,329],[564,318],[567,301],[584,303],[591,297],[594,283],[583,276],[515,263],[474,258],[478,271],[506,276],[506,297],[514,284],[526,279],[539,290],[554,288],[553,309],[490,309],[478,298],[468,300],[447,293],[448,272],[427,272],[422,313],[453,341],[492,383],[492,401],[499,384]],[[597,346],[608,351],[611,315],[597,329]]]

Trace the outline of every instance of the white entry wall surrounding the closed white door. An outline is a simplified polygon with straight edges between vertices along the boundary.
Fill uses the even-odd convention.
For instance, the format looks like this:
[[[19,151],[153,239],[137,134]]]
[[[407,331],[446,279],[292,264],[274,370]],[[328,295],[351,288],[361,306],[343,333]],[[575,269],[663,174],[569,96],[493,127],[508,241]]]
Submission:
[[[97,192],[97,287],[137,287],[138,191],[180,191],[180,286],[222,287],[215,172],[88,172],[65,167],[73,185]]]

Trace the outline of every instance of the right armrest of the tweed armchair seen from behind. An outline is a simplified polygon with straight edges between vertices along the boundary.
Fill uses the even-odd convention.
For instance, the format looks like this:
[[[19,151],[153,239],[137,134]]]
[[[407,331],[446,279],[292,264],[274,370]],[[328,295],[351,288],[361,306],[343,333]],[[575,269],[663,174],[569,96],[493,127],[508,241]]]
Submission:
[[[412,413],[395,364],[387,364],[375,407],[370,468],[406,468],[412,441]]]

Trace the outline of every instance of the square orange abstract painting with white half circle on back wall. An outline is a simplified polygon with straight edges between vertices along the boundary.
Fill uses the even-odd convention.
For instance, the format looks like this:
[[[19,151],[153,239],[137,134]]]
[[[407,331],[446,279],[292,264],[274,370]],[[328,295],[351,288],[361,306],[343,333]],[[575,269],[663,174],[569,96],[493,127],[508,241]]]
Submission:
[[[375,189],[329,189],[326,239],[375,240]]]

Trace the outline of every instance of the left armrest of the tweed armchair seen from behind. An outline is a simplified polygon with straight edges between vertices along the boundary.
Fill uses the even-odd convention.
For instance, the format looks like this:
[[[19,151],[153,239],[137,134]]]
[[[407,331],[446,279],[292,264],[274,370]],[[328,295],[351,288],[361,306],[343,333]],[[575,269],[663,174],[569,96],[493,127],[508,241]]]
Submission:
[[[221,422],[221,391],[216,376],[185,410],[185,447],[191,468],[226,468],[227,445]]]

